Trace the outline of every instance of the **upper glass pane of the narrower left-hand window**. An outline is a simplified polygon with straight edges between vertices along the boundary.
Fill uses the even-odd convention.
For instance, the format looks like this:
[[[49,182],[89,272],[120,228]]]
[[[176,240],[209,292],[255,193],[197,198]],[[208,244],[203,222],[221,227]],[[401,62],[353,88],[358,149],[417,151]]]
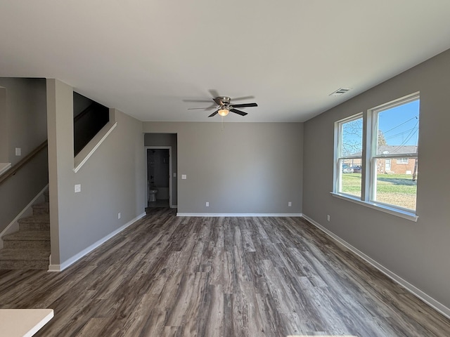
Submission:
[[[361,156],[363,151],[363,119],[342,123],[341,153],[339,157]]]

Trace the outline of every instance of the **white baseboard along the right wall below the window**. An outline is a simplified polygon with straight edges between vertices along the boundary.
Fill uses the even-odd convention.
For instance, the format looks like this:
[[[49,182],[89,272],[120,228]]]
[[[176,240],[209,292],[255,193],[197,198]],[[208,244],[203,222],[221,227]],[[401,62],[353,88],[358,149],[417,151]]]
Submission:
[[[442,315],[444,315],[445,317],[450,319],[450,308],[447,308],[445,305],[443,305],[439,301],[435,300],[434,298],[429,296],[427,293],[424,293],[423,291],[418,289],[416,286],[413,286],[413,284],[409,283],[405,279],[402,279],[401,277],[399,277],[399,275],[395,274],[394,272],[390,271],[389,269],[387,269],[386,267],[384,267],[383,265],[381,265],[377,261],[373,260],[373,258],[371,258],[370,256],[367,256],[362,251],[359,251],[359,249],[356,249],[354,246],[352,246],[351,244],[349,244],[345,240],[343,240],[340,237],[338,237],[338,235],[334,234],[333,232],[330,232],[330,230],[327,230],[326,227],[323,227],[322,225],[320,225],[316,221],[312,220],[308,216],[303,215],[303,218],[308,220],[312,225],[314,225],[317,228],[319,228],[319,230],[321,230],[322,232],[326,233],[329,237],[331,237],[332,239],[334,239],[335,241],[339,242],[340,244],[345,246],[347,249],[349,249],[350,251],[355,253],[357,256],[359,256],[360,258],[365,260],[367,263],[369,263],[370,265],[372,265],[376,269],[380,270],[380,272],[383,272],[383,274],[386,275],[387,277],[389,277],[390,279],[392,279],[392,281],[400,284],[407,291],[412,293],[414,296],[416,296],[417,298],[420,298],[420,300],[423,300],[423,302],[425,302],[428,305],[430,305],[430,307],[434,308],[435,310],[440,312]]]

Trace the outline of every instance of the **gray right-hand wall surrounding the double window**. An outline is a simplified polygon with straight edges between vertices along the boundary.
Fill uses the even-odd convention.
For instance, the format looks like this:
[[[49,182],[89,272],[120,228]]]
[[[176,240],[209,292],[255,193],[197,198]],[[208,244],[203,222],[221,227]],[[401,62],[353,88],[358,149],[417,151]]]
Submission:
[[[450,308],[450,51],[304,124],[303,213]],[[417,223],[334,198],[333,124],[420,91]],[[331,221],[326,221],[330,214]]]

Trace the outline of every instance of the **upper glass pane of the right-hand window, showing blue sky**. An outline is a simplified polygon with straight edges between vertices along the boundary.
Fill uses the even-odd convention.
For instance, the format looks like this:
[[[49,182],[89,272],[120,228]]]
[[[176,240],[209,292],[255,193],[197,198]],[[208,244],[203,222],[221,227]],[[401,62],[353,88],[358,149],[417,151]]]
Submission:
[[[416,154],[419,100],[378,112],[376,154]]]

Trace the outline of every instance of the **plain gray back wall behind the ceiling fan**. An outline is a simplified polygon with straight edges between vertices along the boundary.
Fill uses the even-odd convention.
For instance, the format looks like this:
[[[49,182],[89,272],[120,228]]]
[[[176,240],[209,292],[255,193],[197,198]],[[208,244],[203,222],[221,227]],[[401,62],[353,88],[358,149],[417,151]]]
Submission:
[[[179,213],[302,212],[302,123],[144,122],[143,131],[177,133]]]

